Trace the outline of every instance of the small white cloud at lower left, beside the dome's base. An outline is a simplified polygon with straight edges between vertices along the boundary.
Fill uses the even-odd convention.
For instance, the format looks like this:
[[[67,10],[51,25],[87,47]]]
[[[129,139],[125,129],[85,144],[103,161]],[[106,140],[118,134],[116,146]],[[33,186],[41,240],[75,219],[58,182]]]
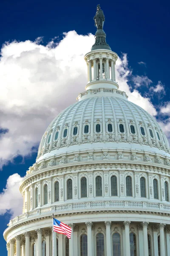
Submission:
[[[15,217],[22,213],[23,198],[19,191],[21,179],[17,173],[8,177],[6,188],[0,193],[0,215],[9,212]]]

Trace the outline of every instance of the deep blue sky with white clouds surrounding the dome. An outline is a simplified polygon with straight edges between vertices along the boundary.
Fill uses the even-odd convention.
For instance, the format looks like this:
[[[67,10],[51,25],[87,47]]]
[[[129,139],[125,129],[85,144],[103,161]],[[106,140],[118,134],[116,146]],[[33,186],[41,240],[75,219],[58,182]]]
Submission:
[[[12,214],[12,212],[10,214],[10,206],[3,207],[3,189],[6,188],[10,175],[18,173],[23,177],[26,174],[26,170],[35,162],[37,147],[47,125],[59,111],[74,103],[78,93],[84,90],[86,71],[82,54],[88,51],[88,47],[94,40],[93,37],[87,35],[88,33],[94,35],[96,31],[93,17],[98,3],[88,0],[85,4],[81,1],[1,1],[0,87],[3,93],[0,96],[0,159],[2,160],[0,164],[0,244],[2,255],[7,253],[3,230]],[[118,81],[120,83],[122,81],[120,89],[126,90],[128,84],[127,93],[132,93],[130,94],[132,101],[134,95],[137,94],[136,97],[141,95],[143,97],[140,102],[141,106],[143,104],[144,109],[151,111],[150,113],[164,127],[167,137],[170,138],[168,133],[170,128],[170,4],[168,1],[158,0],[115,0],[108,1],[107,5],[101,2],[100,5],[105,14],[104,30],[107,34],[107,42],[111,49],[121,57],[119,67],[123,68],[124,75],[120,74],[120,69],[117,71]],[[73,30],[77,32],[77,35],[70,33],[63,36],[63,32]],[[86,37],[79,35],[86,35]],[[59,48],[58,43],[63,37],[65,41],[62,41]],[[36,41],[36,38],[39,39]],[[15,43],[14,40],[16,40]],[[5,42],[8,43],[4,46]],[[19,44],[19,42],[23,43]],[[68,54],[71,52],[71,58],[81,61],[79,56],[82,56],[82,61],[78,66],[76,66],[77,61],[73,61],[72,64],[68,61],[68,64],[65,64],[67,54],[64,56],[64,47],[69,49]],[[47,48],[50,49],[50,53],[47,52]],[[78,55],[74,48],[79,51]],[[59,59],[64,58],[64,61],[56,63],[64,63],[69,70],[75,65],[74,69],[77,71],[74,76],[69,76],[73,72],[68,71],[68,80],[62,87],[62,93],[57,90],[58,87],[54,88],[54,86],[56,86],[55,79],[57,86],[59,83],[62,84],[65,69],[61,69],[61,77],[56,76],[56,69],[53,70],[53,66],[55,65],[55,68],[59,66],[51,57],[61,52]],[[41,62],[37,62],[37,59]],[[42,76],[45,68],[42,65],[42,59],[44,62],[48,61],[49,70],[48,72],[45,70],[46,76]],[[37,65],[33,70],[32,65],[35,62]],[[27,79],[26,70],[32,70],[34,76],[31,75]],[[18,77],[17,72],[20,74]],[[125,75],[125,72],[128,75]],[[22,81],[21,84],[20,81]],[[26,83],[26,88],[23,83]],[[43,91],[47,84],[49,84],[50,92],[48,91],[45,96]],[[29,88],[31,88],[30,91]],[[136,93],[133,93],[134,90]],[[25,96],[26,92],[29,92],[29,96]],[[52,100],[51,92],[56,96]],[[59,102],[60,96],[62,96],[62,102]],[[9,99],[7,100],[6,97]],[[137,102],[136,98],[135,103]],[[22,136],[20,136],[22,131],[20,128],[26,130]],[[12,205],[11,209],[13,209]]]

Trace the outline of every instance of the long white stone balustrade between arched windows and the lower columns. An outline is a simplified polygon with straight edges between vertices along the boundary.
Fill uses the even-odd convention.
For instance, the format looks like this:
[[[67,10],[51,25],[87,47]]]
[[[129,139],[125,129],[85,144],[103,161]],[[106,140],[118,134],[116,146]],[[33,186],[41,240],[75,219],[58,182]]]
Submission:
[[[12,219],[8,226],[12,226],[17,222],[26,221],[27,219],[31,219],[32,217],[39,217],[42,215],[49,215],[52,213],[60,214],[60,213],[68,213],[68,212],[76,212],[77,210],[89,211],[89,210],[142,210],[142,211],[168,211],[170,213],[170,204],[164,203],[153,203],[153,202],[141,202],[141,201],[91,201],[91,202],[81,202],[81,203],[71,203],[71,204],[59,204],[50,207],[43,207],[40,209],[34,209],[30,212],[24,213],[20,216]]]

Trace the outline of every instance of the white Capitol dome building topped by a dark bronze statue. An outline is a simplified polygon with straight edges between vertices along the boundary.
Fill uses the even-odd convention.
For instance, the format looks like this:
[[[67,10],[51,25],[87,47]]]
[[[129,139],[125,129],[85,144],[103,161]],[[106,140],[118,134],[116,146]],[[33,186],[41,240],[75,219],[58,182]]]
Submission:
[[[4,231],[8,256],[170,255],[170,146],[119,90],[99,6],[94,20],[85,92],[42,136],[20,183],[23,214]],[[53,232],[52,215],[71,239]]]

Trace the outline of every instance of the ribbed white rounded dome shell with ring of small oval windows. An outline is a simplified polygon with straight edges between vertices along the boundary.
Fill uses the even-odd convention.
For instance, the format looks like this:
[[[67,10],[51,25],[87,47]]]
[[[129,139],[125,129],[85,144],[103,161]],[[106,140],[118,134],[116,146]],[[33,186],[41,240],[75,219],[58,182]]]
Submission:
[[[100,96],[98,91],[95,96],[88,96],[60,113],[42,137],[38,159],[69,151],[68,147],[73,145],[73,151],[79,150],[80,144],[86,144],[85,148],[98,148],[96,143],[109,143],[109,148],[119,145],[122,149],[137,147],[154,152],[158,148],[161,154],[169,153],[168,140],[156,120],[142,108],[129,102],[125,94],[120,94],[118,90],[116,92],[119,93],[115,93],[115,96],[111,93]],[[98,132],[97,124],[100,129]],[[88,125],[86,133],[85,125]],[[124,132],[120,130],[121,126]],[[100,147],[104,146],[100,144]]]

